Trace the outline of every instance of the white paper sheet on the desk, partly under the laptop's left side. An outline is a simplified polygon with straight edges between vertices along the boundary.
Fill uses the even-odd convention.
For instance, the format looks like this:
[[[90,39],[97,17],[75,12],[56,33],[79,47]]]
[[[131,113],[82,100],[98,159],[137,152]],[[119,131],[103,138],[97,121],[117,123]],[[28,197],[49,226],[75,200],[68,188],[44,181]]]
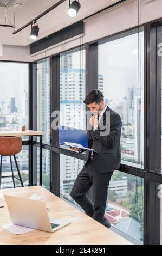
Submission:
[[[35,230],[33,228],[25,228],[19,225],[14,225],[12,223],[2,225],[2,227],[15,235],[21,235]]]

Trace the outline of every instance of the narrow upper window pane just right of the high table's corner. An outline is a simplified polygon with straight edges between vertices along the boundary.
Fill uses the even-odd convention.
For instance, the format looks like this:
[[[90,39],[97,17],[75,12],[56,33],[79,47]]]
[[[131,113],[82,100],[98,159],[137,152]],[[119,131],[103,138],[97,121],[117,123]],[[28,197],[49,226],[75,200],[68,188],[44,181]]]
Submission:
[[[49,58],[37,63],[37,129],[43,143],[50,143],[50,65]]]

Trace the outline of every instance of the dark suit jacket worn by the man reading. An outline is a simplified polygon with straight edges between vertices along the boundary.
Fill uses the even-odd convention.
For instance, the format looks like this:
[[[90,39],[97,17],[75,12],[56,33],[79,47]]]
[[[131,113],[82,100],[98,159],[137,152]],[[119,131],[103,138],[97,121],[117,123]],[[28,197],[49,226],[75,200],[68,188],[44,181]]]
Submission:
[[[98,153],[93,152],[93,161],[96,169],[100,173],[113,172],[120,167],[121,149],[121,118],[118,113],[107,106],[106,111],[110,111],[110,130],[106,136],[101,135],[104,130],[88,130],[88,147],[96,149]],[[106,111],[103,113],[100,122],[103,124],[106,119]],[[88,153],[87,161],[89,160],[91,152]],[[87,163],[86,161],[86,163]],[[86,164],[85,163],[85,164]]]

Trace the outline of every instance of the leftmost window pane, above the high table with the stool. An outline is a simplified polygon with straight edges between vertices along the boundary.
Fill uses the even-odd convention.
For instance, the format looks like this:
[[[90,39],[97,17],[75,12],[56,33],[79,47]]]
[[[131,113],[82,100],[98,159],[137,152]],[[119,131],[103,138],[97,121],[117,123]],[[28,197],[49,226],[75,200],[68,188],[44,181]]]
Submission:
[[[28,130],[28,64],[0,62],[0,77],[0,130]]]

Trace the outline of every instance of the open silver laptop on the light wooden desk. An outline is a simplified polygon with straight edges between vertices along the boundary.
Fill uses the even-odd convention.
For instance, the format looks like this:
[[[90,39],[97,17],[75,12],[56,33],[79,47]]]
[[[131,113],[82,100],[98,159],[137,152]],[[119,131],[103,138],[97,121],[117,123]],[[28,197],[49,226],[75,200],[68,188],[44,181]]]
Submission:
[[[54,232],[69,221],[49,218],[46,203],[22,197],[4,195],[12,223],[22,227]]]

